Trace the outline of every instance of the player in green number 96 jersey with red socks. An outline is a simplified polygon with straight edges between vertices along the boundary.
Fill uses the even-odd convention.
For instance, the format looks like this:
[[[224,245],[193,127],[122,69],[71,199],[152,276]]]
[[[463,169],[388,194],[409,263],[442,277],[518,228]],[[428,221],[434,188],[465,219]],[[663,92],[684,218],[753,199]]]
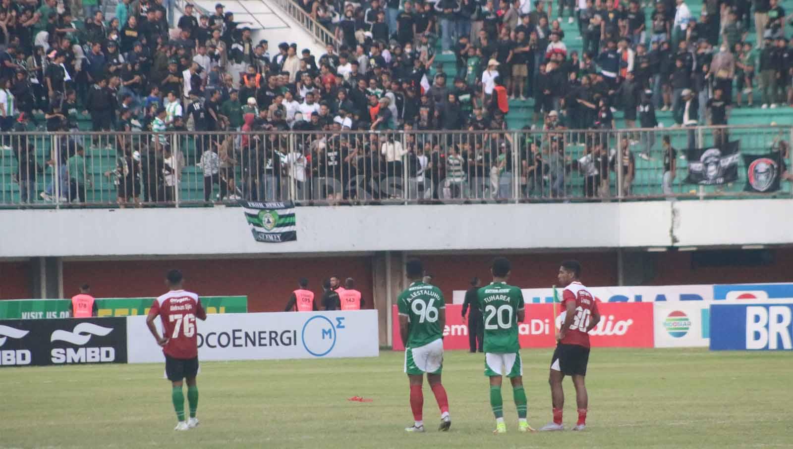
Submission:
[[[408,261],[406,272],[410,286],[397,299],[399,330],[404,344],[404,372],[410,382],[410,408],[415,422],[407,432],[424,432],[422,418],[424,397],[421,390],[427,374],[435,400],[441,409],[439,430],[451,427],[449,400],[441,383],[443,366],[443,328],[446,326],[446,303],[438,287],[424,283],[421,261]]]

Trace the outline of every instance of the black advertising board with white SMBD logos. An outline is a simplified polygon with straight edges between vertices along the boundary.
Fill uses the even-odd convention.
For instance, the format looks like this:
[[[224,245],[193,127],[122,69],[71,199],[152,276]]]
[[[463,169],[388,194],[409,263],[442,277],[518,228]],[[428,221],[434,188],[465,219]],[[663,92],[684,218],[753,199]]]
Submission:
[[[126,362],[126,318],[0,322],[0,367]]]

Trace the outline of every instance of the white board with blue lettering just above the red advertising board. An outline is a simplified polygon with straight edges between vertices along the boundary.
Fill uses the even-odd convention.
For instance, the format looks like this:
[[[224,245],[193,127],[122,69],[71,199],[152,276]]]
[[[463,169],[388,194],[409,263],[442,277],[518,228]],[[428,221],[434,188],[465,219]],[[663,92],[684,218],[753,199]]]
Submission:
[[[660,285],[632,287],[587,287],[603,303],[653,303],[661,301],[708,301],[713,299],[713,285]],[[561,295],[561,287],[557,287]],[[526,303],[553,303],[552,288],[523,288]],[[462,304],[465,290],[455,290],[454,304]]]

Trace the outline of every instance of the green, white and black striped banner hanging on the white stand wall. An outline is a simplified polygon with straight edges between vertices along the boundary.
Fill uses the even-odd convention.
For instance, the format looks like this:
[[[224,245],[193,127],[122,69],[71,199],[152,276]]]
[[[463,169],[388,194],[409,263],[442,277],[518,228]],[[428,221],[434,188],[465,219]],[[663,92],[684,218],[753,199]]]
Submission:
[[[245,209],[245,218],[251,226],[251,233],[256,242],[289,242],[297,240],[295,227],[295,204],[259,203],[258,201],[240,201]]]

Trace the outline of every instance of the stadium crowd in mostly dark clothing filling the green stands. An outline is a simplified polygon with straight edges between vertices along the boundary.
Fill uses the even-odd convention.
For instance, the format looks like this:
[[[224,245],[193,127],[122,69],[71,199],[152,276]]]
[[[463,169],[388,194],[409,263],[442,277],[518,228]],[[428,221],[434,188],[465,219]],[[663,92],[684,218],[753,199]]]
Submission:
[[[511,197],[512,173],[519,173],[527,196],[563,196],[571,165],[592,178],[588,196],[607,195],[608,172],[619,167],[623,191],[630,192],[634,154],[628,143],[637,142],[626,142],[621,156],[596,134],[513,142],[501,132],[510,101],[533,99],[533,120],[524,128],[536,130],[614,129],[617,110],[626,127],[657,127],[657,108],[672,110],[681,127],[726,124],[742,95],[754,104],[756,81],[762,107],[791,104],[793,46],[777,2],[705,0],[697,19],[684,0],[561,0],[554,19],[553,4],[542,0],[301,0],[339,40],[317,58],[297,44],[282,42],[270,51],[266,40],[254,42],[251,29],[220,3],[210,14],[188,4],[171,29],[163,0],[122,0],[110,21],[90,0],[80,8],[56,0],[2,0],[0,127],[75,131],[85,111],[94,131],[333,133],[305,135],[291,152],[285,135],[200,138],[205,200],[214,185],[220,185],[221,200],[282,199],[287,181],[297,184],[301,199],[347,199],[355,196],[351,179],[363,174],[364,184],[377,185],[404,165],[412,198],[469,192]],[[565,8],[578,24],[580,55],[565,44]],[[75,25],[75,16],[82,25]],[[757,49],[745,41],[752,27]],[[443,54],[454,55],[456,73],[435,63],[436,40]],[[36,120],[42,112],[44,124]],[[335,133],[341,130],[381,134]],[[392,133],[399,130],[480,132],[400,139]],[[655,139],[645,137],[639,155],[648,158]],[[587,157],[565,161],[563,147],[570,142],[583,143]],[[676,153],[665,142],[664,191],[670,193]],[[35,196],[29,180],[40,167],[29,143],[17,143],[17,181],[26,201]],[[134,148],[130,139],[93,144],[100,143],[118,151],[119,166],[105,174],[116,177],[120,201],[174,199],[184,149],[171,148],[164,135]],[[60,192],[84,200],[90,175],[79,166],[87,144],[72,139],[65,145],[48,164],[61,170]],[[519,152],[515,169],[512,151]],[[235,174],[240,171],[241,177]],[[335,184],[320,192],[316,179]],[[442,179],[445,189],[427,188]],[[364,189],[375,198],[389,195],[388,189]],[[50,186],[40,195],[52,194]]]

